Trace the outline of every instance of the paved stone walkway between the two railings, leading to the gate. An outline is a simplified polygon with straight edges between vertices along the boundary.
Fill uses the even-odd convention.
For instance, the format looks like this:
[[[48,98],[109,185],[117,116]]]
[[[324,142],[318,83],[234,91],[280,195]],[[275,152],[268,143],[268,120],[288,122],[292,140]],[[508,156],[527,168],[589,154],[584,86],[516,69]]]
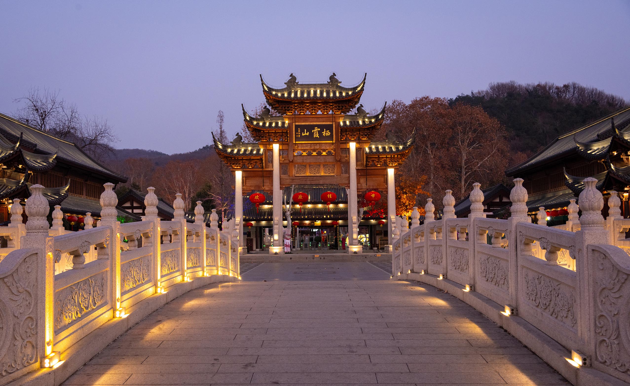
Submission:
[[[321,273],[334,268],[330,263],[277,264],[242,275],[256,281],[209,285],[176,298],[64,385],[568,384],[503,329],[437,288],[355,278],[379,271],[365,262],[335,263],[332,274]],[[259,280],[263,273],[269,281]],[[313,280],[322,276],[344,277]]]

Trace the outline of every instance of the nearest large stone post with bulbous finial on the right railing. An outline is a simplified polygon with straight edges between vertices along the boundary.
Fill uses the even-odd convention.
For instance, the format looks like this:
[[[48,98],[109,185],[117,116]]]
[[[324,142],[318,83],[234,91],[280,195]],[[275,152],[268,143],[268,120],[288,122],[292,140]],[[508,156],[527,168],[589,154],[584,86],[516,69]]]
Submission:
[[[569,251],[571,258],[576,263],[576,297],[578,298],[579,322],[578,336],[582,346],[579,348],[582,353],[593,356],[592,347],[595,331],[593,330],[593,301],[595,296],[592,288],[593,275],[588,270],[592,256],[588,255],[588,244],[600,244],[607,240],[609,235],[604,229],[604,217],[602,209],[604,208],[604,197],[597,190],[595,185],[597,179],[589,177],[584,179],[585,188],[581,191],[578,200],[582,215],[580,217],[580,230],[575,232],[576,246],[573,251]]]

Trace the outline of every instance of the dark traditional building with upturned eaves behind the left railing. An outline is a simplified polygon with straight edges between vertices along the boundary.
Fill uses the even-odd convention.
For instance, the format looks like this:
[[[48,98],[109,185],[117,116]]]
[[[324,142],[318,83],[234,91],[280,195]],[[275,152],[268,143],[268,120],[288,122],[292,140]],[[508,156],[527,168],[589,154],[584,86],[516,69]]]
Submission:
[[[24,200],[30,196],[32,184],[42,184],[49,204],[61,206],[72,230],[79,228],[79,219],[87,212],[94,219],[100,217],[98,200],[104,183],[127,181],[72,142],[3,114],[0,114],[0,170],[0,223],[8,220],[8,207],[14,198]],[[139,219],[120,207],[117,209],[120,215]]]

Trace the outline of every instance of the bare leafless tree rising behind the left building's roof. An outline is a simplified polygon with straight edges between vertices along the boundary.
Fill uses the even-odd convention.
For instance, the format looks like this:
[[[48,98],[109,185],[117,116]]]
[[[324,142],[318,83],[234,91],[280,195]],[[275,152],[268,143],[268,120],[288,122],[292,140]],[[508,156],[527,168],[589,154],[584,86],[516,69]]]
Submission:
[[[112,153],[112,143],[118,141],[106,119],[99,116],[82,117],[76,105],[59,97],[59,91],[31,88],[26,96],[13,101],[24,104],[15,113],[18,120],[74,142],[95,158]]]

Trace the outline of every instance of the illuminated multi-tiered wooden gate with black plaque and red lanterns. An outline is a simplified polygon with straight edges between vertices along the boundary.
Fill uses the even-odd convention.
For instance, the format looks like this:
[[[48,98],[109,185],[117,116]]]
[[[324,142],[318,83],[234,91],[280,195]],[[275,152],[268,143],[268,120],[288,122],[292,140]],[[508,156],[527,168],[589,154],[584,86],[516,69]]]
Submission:
[[[221,143],[213,134],[217,154],[234,173],[242,246],[271,245],[270,253],[282,253],[284,227],[294,249],[324,245],[361,253],[390,244],[394,174],[413,149],[413,135],[372,141],[385,105],[374,115],[358,105],[365,79],[341,86],[333,72],[328,82],[302,84],[291,74],[284,87],[274,88],[261,76],[269,107],[260,116],[243,107],[257,142],[243,143],[237,135]]]

